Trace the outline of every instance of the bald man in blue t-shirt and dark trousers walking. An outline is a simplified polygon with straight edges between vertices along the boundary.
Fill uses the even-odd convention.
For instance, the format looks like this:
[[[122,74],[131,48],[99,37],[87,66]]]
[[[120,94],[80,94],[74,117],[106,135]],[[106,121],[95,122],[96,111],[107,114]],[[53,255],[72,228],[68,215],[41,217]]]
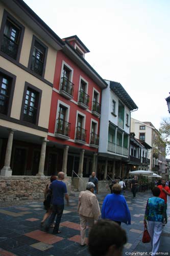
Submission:
[[[55,217],[57,215],[56,224],[53,229],[54,234],[61,233],[61,231],[59,230],[59,225],[60,225],[61,217],[64,210],[64,196],[67,201],[67,204],[69,204],[67,188],[63,180],[64,180],[64,173],[59,172],[58,180],[53,181],[49,187],[49,189],[52,190],[52,193],[53,193],[53,200],[52,200],[53,207],[52,207],[52,214],[48,219],[48,223],[45,227],[45,231],[49,230],[50,226],[54,222]]]

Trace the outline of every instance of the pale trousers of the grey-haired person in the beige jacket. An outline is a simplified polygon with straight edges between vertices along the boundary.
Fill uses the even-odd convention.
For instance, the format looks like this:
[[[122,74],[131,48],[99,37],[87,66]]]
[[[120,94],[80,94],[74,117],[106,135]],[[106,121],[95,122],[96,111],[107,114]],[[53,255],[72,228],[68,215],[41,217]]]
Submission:
[[[81,245],[86,243],[86,225],[88,223],[88,233],[90,232],[92,226],[94,225],[94,218],[85,217],[80,215],[80,236]]]

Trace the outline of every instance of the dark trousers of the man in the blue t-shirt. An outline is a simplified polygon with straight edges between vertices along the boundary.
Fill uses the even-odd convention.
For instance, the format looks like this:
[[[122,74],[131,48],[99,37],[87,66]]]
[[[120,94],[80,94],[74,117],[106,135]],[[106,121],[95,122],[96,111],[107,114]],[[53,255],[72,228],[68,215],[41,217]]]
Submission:
[[[47,228],[50,228],[50,226],[53,224],[55,217],[57,215],[56,224],[53,229],[53,232],[57,233],[59,231],[59,225],[60,225],[61,217],[63,214],[63,210],[64,210],[64,205],[53,205],[52,214],[48,219],[48,223],[47,223]]]

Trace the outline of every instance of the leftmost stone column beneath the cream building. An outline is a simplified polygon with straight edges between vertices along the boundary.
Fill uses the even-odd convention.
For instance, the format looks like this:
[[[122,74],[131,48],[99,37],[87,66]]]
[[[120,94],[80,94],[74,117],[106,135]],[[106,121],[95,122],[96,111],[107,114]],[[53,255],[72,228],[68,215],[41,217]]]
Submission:
[[[10,129],[7,148],[6,148],[6,154],[5,154],[5,164],[1,170],[1,176],[7,176],[7,177],[12,176],[12,169],[10,167],[10,162],[11,162],[11,152],[12,152],[14,131],[16,130]]]

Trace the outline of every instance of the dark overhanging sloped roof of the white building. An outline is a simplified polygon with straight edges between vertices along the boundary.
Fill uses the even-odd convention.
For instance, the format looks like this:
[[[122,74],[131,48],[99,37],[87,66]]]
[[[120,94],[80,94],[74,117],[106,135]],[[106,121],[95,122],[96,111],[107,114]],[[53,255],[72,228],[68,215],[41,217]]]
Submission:
[[[138,109],[138,106],[123,88],[122,84],[119,82],[110,81],[110,89],[130,109],[130,111]]]

